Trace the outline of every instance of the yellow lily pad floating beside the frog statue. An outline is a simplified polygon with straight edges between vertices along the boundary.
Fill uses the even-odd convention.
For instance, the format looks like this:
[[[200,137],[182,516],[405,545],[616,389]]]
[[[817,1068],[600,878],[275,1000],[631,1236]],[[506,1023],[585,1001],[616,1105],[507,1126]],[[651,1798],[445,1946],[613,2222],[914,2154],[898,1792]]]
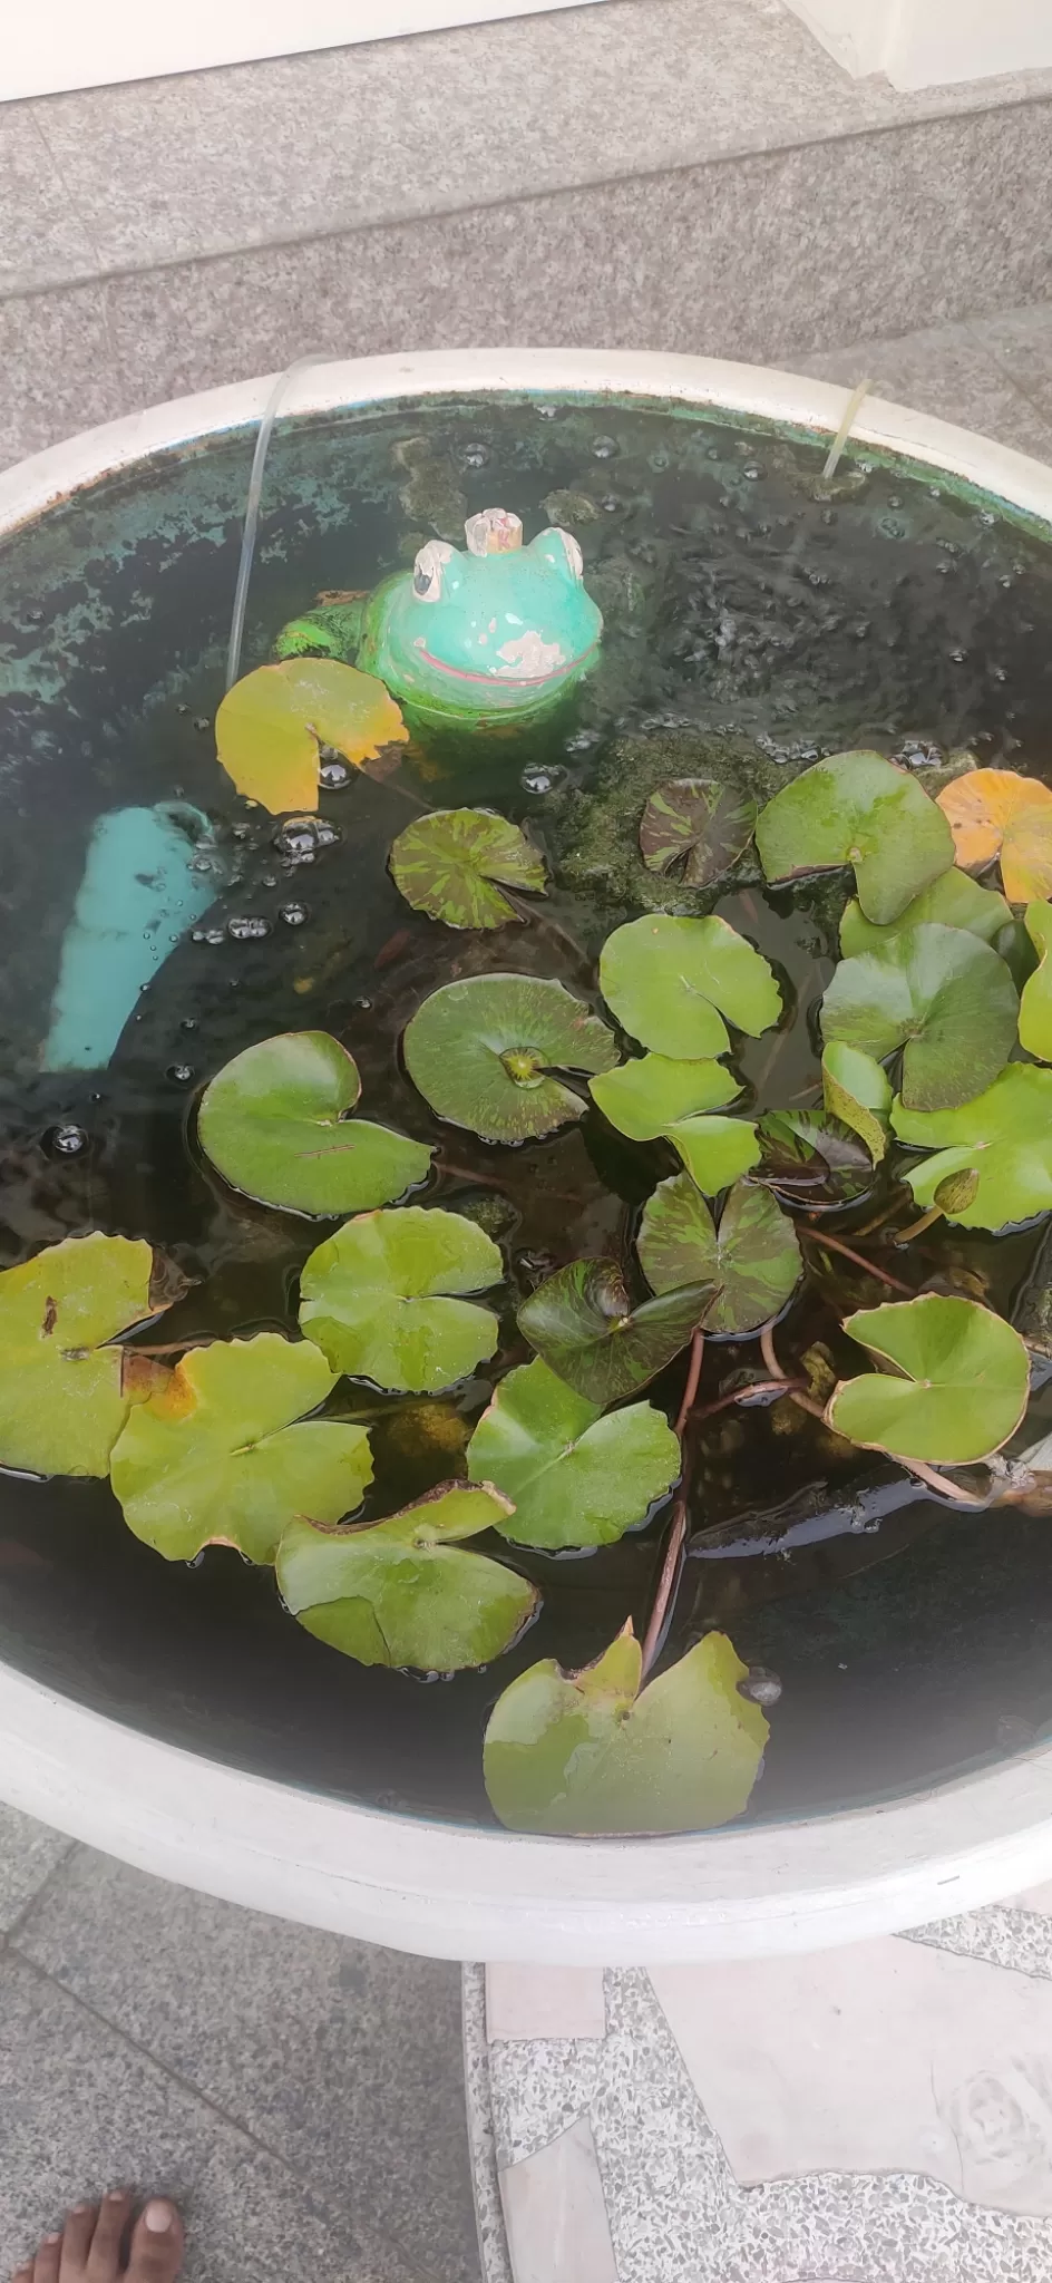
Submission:
[[[226,692],[215,717],[219,763],[237,792],[269,808],[317,808],[317,747],[333,744],[354,767],[408,728],[383,683],[333,658],[285,658],[256,667]]]

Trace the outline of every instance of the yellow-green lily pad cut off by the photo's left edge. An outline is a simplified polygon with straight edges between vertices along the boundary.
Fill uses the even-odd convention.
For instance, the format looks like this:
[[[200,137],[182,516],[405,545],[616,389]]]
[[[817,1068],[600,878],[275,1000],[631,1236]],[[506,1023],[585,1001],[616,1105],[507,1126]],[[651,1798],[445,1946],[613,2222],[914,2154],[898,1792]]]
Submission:
[[[0,1274],[0,1466],[107,1475],[132,1406],[119,1331],[157,1313],[153,1251],[128,1237],[64,1237]]]

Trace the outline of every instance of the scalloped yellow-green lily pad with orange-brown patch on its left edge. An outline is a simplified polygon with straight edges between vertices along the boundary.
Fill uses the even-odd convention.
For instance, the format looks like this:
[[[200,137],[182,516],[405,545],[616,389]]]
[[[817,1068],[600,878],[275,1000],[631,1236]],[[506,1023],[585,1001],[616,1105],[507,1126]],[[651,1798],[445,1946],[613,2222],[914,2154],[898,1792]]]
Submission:
[[[365,1429],[304,1418],[333,1386],[317,1347],[276,1331],[189,1349],[116,1443],[110,1473],[128,1530],[167,1562],[203,1546],[274,1562],[294,1514],[354,1514],[372,1482]]]

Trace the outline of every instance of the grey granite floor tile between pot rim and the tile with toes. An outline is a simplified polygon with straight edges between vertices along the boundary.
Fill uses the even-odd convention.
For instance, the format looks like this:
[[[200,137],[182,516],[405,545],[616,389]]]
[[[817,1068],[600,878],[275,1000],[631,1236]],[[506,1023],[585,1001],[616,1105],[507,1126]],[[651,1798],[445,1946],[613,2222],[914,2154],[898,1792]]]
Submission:
[[[78,1852],[23,1957],[443,2283],[479,2274],[459,1968],[260,1918]]]

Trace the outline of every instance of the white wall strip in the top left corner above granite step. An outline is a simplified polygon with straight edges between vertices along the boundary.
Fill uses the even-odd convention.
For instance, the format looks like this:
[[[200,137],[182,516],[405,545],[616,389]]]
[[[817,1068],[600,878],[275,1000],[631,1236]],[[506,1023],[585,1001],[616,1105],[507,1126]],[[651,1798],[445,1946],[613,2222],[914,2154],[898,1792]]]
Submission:
[[[0,103],[304,48],[532,16],[580,0],[0,0]]]

